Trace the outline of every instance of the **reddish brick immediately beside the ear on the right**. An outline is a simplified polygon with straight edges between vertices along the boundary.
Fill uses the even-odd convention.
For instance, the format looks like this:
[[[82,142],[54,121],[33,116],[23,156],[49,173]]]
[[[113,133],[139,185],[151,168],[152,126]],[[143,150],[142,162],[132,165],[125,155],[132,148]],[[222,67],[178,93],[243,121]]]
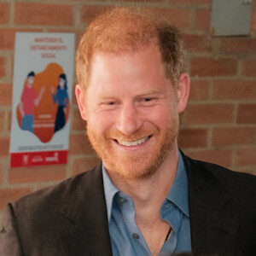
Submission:
[[[207,100],[209,96],[210,82],[208,80],[191,80],[189,101]]]

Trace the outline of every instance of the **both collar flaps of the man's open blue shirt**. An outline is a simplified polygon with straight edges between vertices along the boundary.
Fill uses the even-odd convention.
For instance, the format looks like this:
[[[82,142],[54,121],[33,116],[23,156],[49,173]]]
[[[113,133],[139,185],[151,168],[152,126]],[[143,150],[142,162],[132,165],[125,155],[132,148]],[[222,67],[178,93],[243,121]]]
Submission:
[[[119,189],[113,184],[104,165],[102,165],[102,175],[109,223],[112,214],[113,196],[119,192]],[[189,218],[188,177],[180,152],[178,152],[177,174],[166,199],[172,201]]]

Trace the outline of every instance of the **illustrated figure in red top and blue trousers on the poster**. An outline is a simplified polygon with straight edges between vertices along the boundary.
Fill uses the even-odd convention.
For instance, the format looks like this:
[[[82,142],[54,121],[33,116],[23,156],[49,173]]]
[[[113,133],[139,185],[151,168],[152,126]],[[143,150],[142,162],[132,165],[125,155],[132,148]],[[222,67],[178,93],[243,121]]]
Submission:
[[[22,116],[20,128],[25,131],[34,133],[34,113],[35,107],[38,106],[44,94],[45,87],[40,90],[39,95],[33,86],[35,73],[32,71],[27,74],[26,84],[20,99],[20,114]]]

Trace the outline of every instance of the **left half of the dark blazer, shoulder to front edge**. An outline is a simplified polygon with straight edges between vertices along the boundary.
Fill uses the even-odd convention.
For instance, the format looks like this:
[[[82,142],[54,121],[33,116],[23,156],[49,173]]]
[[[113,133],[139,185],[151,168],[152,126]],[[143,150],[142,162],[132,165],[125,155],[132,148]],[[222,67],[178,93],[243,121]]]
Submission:
[[[4,252],[15,241],[21,255],[111,255],[101,165],[9,204],[2,230]]]

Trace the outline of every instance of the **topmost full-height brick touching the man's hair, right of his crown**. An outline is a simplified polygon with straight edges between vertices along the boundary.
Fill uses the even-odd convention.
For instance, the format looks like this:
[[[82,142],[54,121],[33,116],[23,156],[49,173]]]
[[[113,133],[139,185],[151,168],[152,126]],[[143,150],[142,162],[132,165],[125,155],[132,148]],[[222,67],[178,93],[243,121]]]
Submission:
[[[190,10],[189,9],[155,9],[156,14],[159,14],[169,20],[173,25],[180,29],[190,26]]]

